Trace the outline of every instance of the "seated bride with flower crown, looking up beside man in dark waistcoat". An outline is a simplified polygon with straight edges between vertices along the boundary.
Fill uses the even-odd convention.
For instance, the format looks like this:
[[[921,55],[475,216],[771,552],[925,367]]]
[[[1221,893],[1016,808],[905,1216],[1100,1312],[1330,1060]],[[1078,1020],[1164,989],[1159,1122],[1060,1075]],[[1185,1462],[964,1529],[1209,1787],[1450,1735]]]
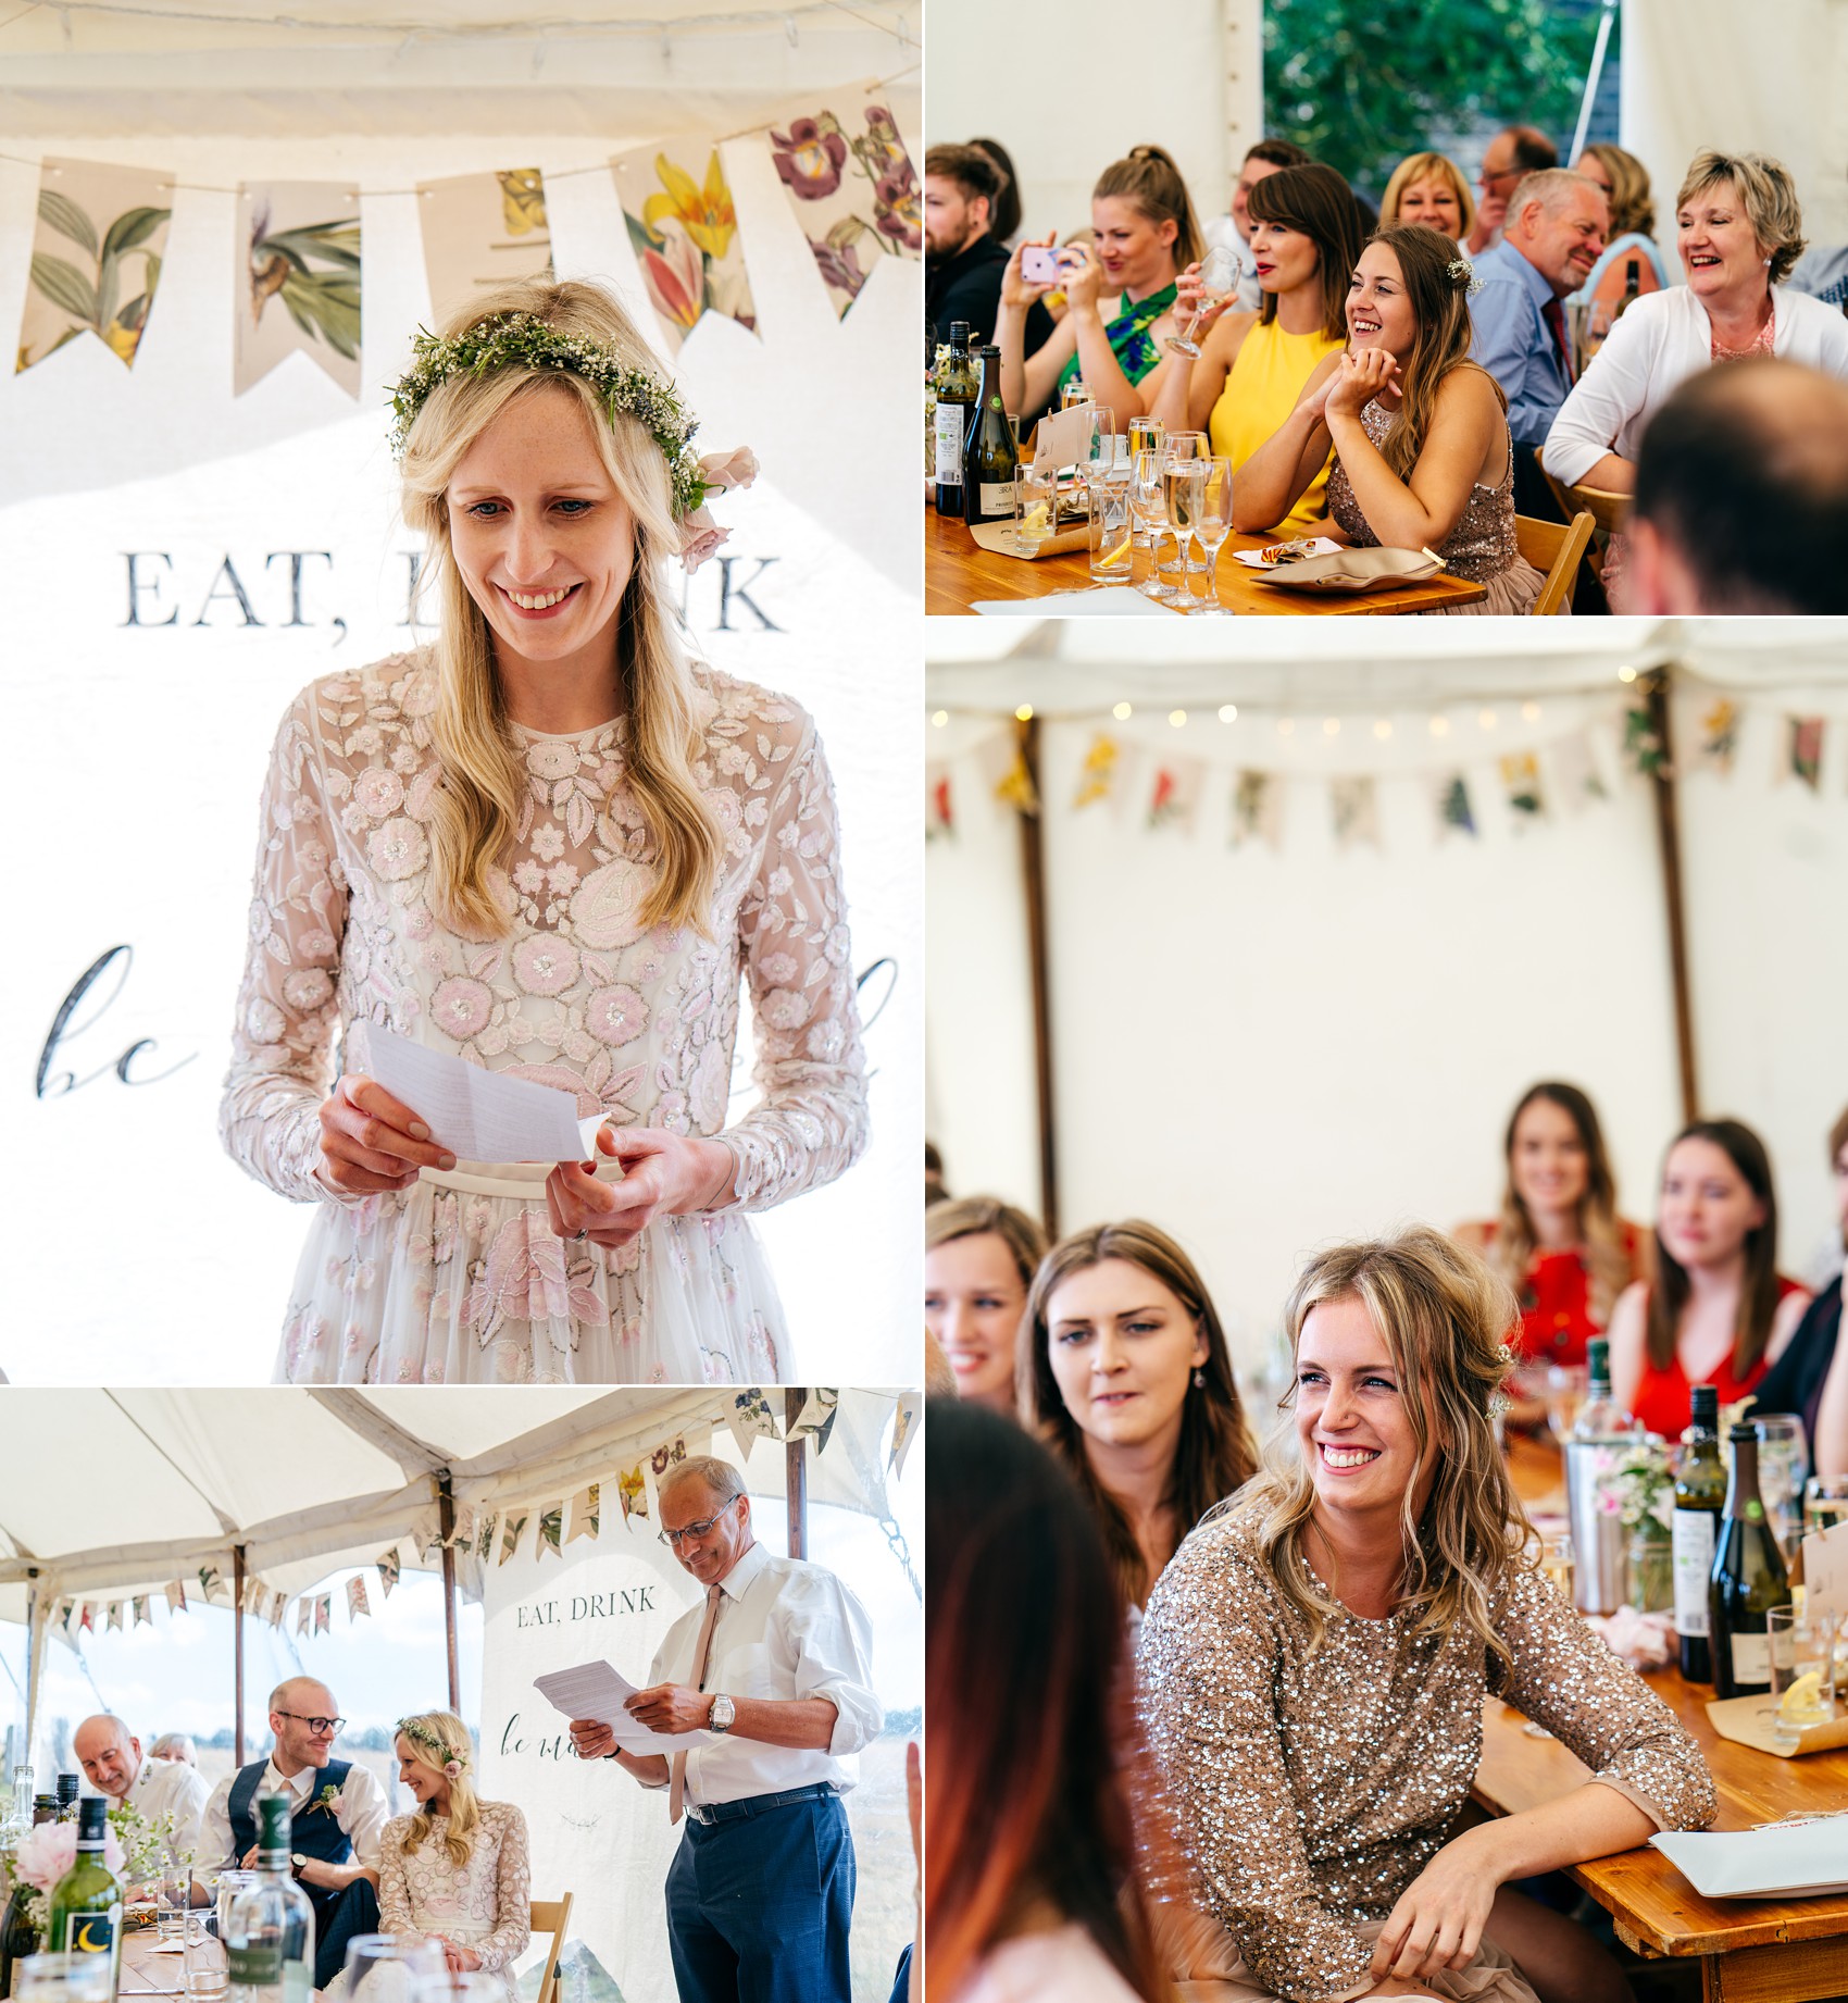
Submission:
[[[499,1975],[509,2003],[513,1965],[533,1937],[527,1817],[511,1801],[481,1801],[469,1781],[475,1753],[452,1711],[398,1719],[398,1781],[416,1797],[378,1839],[378,1927],[436,1941],[452,1975]],[[342,2003],[344,1975],[324,1991]]]

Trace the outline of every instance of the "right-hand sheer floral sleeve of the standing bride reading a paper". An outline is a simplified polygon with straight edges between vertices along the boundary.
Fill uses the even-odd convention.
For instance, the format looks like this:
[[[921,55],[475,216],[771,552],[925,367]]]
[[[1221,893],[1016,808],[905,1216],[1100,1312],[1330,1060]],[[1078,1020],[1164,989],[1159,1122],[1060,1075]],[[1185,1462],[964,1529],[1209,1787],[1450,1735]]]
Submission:
[[[845,1174],[867,1144],[841,829],[813,725],[805,725],[771,805],[763,863],[739,907],[739,937],[763,1098],[723,1140],[739,1158],[737,1208],[769,1210]]]

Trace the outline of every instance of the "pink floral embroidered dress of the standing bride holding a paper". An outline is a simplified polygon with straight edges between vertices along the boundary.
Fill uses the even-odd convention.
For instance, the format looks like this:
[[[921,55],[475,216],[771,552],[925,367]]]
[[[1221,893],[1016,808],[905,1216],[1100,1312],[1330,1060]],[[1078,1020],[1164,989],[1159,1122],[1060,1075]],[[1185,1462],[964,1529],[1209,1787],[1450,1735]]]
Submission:
[[[527,797],[503,939],[430,909],[436,673],[400,655],[304,689],[262,801],[250,955],[220,1128],[258,1182],[316,1206],[288,1300],[288,1382],[757,1382],[789,1338],[745,1212],[831,1182],[865,1146],[865,1078],[833,785],[807,713],[693,669],[695,781],[723,835],[709,937],[643,929],[655,845],[621,719],[517,725]],[[725,1124],[739,983],[761,1102]],[[727,1210],[657,1218],[623,1250],[561,1240],[549,1164],[458,1162],[402,1192],[320,1176],[332,1044],[376,1022],[563,1088],[617,1126],[723,1136]],[[364,1072],[362,1032],[346,1068]]]

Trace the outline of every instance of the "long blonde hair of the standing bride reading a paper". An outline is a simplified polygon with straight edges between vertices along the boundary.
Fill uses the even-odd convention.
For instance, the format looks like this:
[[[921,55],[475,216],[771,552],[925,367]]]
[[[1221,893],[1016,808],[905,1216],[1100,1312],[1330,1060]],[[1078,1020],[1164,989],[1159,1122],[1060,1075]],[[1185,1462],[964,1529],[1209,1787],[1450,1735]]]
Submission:
[[[613,353],[625,367],[659,363],[623,308],[595,284],[527,278],[479,294],[442,326],[444,341],[503,314],[531,314],[559,335]],[[667,461],[647,425],[615,417],[597,387],[569,369],[458,369],[430,391],[404,443],[404,521],[428,543],[424,581],[436,579],[436,713],[430,733],[442,781],[430,803],[430,903],[450,929],[505,937],[513,919],[489,877],[513,841],[527,791],[525,751],[507,715],[495,647],[456,569],[448,483],[487,427],[525,397],[577,397],[617,493],[635,517],[635,567],[617,609],[617,675],[629,741],[625,783],[655,837],[657,875],[643,925],[707,929],[707,897],[721,857],[719,829],[693,775],[701,731],[693,679],[669,609],[665,563],[679,547]]]

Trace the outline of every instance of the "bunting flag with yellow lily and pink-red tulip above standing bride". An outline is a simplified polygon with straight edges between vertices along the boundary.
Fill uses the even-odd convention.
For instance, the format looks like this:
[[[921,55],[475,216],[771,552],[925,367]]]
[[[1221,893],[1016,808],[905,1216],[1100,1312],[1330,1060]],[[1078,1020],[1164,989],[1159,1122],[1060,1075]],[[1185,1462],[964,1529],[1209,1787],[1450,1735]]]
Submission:
[[[757,326],[745,244],[717,138],[677,138],[611,160],[629,242],[669,355],[707,312]]]

